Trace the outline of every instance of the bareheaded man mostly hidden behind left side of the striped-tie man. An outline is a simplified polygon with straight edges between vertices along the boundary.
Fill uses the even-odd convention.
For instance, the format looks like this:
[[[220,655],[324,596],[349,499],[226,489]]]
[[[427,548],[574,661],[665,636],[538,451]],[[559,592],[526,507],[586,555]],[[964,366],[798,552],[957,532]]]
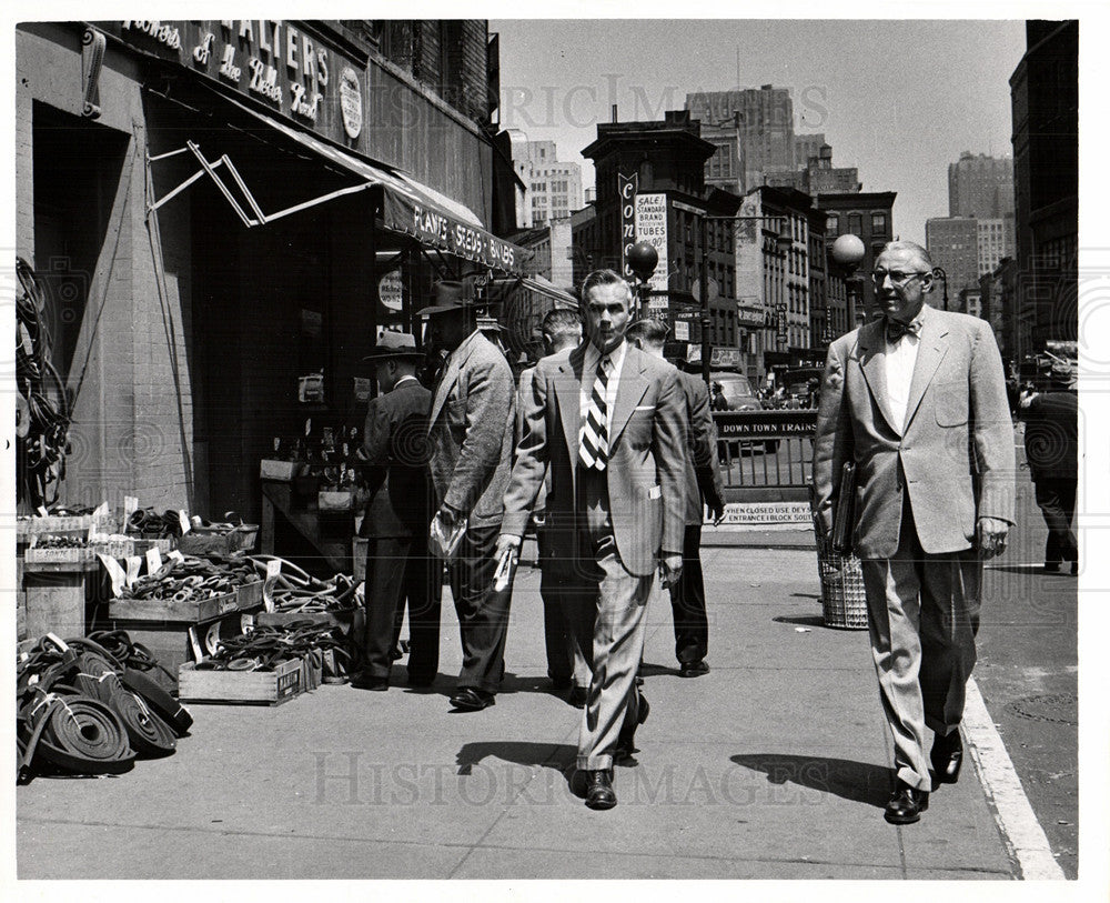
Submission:
[[[541,325],[541,342],[544,357],[569,352],[582,344],[582,317],[574,310],[553,310],[544,317]],[[521,372],[516,400],[516,443],[524,435],[524,412],[534,394],[533,378],[536,368]],[[566,694],[566,700],[576,708],[586,704],[586,689],[589,686],[589,665],[578,650],[571,634],[571,623],[563,601],[567,581],[568,562],[554,556],[551,535],[546,524],[547,493],[551,492],[551,468],[544,474],[544,482],[532,510],[536,525],[536,545],[539,550],[539,598],[544,605],[544,648],[547,652],[547,676],[552,690]]]

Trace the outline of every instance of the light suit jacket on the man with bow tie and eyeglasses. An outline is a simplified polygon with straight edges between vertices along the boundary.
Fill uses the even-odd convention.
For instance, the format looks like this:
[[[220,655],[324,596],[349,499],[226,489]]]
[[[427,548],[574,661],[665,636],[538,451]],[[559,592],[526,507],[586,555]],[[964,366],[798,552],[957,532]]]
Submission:
[[[1013,522],[1013,429],[995,333],[962,313],[926,307],[921,318],[904,423],[890,413],[882,320],[828,351],[814,441],[817,513],[831,531],[841,465],[854,460],[861,559],[897,550],[904,491],[930,554],[969,549],[977,516]]]

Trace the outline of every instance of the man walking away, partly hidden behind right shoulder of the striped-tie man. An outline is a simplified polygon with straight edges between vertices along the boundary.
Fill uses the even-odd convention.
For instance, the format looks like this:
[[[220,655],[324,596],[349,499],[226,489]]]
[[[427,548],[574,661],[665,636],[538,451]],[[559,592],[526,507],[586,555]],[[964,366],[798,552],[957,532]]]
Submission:
[[[628,327],[628,340],[642,351],[663,358],[667,327],[659,320],[638,320]],[[670,588],[675,619],[675,656],[682,678],[709,672],[709,619],[702,574],[702,523],[705,505],[714,520],[725,513],[725,488],[717,470],[716,430],[709,413],[709,390],[693,373],[678,371],[686,413],[686,531],[683,534],[683,573]]]

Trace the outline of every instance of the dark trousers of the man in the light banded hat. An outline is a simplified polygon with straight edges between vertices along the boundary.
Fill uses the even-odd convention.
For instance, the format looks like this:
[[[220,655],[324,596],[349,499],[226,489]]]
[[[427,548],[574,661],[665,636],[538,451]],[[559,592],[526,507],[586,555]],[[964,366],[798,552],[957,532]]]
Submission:
[[[440,665],[440,562],[418,536],[372,538],[366,549],[363,671],[389,678],[408,603],[408,680],[430,683]]]

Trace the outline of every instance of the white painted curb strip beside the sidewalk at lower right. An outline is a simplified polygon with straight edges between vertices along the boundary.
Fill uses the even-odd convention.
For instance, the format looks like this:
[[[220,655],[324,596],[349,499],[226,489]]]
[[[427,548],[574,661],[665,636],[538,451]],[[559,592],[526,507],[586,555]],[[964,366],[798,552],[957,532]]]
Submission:
[[[1021,880],[1066,881],[975,678],[967,684],[963,733],[998,833],[1007,853],[1018,864]]]

